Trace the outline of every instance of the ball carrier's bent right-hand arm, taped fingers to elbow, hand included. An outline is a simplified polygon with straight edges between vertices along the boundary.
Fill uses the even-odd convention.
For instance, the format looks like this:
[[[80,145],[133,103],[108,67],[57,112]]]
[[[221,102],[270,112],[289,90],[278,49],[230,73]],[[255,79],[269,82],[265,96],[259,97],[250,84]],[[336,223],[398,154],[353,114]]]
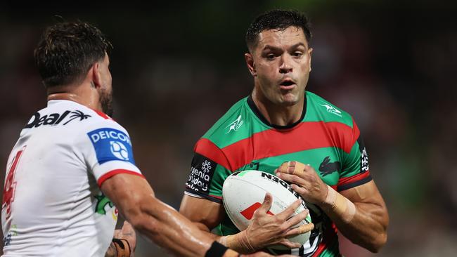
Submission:
[[[276,175],[293,183],[292,188],[305,201],[320,206],[355,244],[378,252],[387,242],[389,215],[373,180],[336,192],[323,183],[311,166],[300,162],[285,162]]]

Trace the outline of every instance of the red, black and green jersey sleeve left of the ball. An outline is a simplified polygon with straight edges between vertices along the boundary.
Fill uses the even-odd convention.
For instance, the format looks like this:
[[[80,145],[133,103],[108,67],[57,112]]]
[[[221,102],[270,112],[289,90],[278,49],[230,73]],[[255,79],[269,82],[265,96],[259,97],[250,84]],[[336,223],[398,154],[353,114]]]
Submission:
[[[221,204],[222,185],[231,174],[226,163],[226,157],[219,147],[205,138],[198,140],[184,193]]]

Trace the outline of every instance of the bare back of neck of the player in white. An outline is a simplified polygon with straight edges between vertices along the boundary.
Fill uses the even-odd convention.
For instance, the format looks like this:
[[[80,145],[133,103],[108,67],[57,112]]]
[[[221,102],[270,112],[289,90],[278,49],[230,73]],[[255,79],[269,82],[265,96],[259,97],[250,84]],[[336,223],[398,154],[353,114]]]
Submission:
[[[98,93],[89,85],[52,86],[47,89],[48,101],[70,100],[94,110],[102,111]]]

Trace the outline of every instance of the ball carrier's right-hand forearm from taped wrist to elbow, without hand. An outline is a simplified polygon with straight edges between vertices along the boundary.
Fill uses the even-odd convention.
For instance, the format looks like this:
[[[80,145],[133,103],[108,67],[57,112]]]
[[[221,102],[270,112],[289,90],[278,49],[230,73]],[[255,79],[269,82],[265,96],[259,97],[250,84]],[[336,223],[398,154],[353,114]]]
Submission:
[[[332,189],[333,190],[333,189]],[[386,209],[382,204],[352,203],[340,193],[331,191],[337,199],[329,199],[321,208],[345,237],[369,251],[378,252],[387,241]],[[330,197],[331,198],[331,197]]]

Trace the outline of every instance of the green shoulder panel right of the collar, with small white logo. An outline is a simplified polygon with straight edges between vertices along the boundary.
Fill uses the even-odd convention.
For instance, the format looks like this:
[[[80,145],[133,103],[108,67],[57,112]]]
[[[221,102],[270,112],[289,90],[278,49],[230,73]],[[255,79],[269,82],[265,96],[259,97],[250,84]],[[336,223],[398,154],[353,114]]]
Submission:
[[[307,120],[337,122],[354,128],[354,119],[351,114],[333,105],[328,100],[307,91],[307,101]]]

